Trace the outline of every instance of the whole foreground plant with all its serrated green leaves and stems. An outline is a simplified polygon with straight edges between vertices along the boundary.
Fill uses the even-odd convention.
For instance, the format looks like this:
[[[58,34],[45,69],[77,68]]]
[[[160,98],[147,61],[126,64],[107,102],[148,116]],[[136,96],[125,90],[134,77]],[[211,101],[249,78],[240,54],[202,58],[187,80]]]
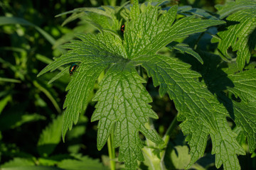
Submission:
[[[151,169],[164,169],[164,152],[176,118],[161,139],[149,120],[157,115],[148,104],[152,100],[143,86],[146,81],[142,77],[147,75],[154,86],[159,86],[160,96],[167,93],[174,101],[177,120],[182,122],[180,127],[190,146],[191,160],[186,168],[203,157],[210,135],[215,166],[240,169],[237,156],[245,154],[245,150],[238,143],[236,132],[247,137],[251,153],[256,147],[255,62],[250,62],[250,55],[255,52],[255,1],[236,1],[232,6],[237,8],[230,8],[230,4],[218,8],[221,19],[228,16],[227,23],[200,9],[172,6],[163,10],[161,5],[139,6],[135,1],[130,8],[102,6],[70,11],[73,14],[67,22],[85,16],[100,33],[77,35],[80,40],[63,45],[69,51],[38,74],[65,66],[52,82],[68,72],[70,64],[79,66],[66,88],[63,140],[73,123],[78,123],[79,114],[85,111],[95,82],[103,72],[100,88],[92,98],[97,105],[91,120],[99,120],[97,148],[102,149],[109,139],[110,158],[114,159],[113,148],[119,147],[119,161],[125,163],[126,169],[137,169],[137,161],[144,160],[143,154],[151,155],[145,156]],[[240,20],[243,16],[250,18]],[[123,23],[122,34],[119,29]],[[198,47],[207,28],[219,25],[225,29],[213,35],[213,42],[219,42],[223,59],[229,56],[229,47],[238,50],[236,54],[231,52],[237,57],[229,57],[226,62]],[[201,33],[193,45],[198,53],[174,42],[194,33]],[[171,50],[171,56],[159,54],[164,47]],[[176,55],[174,49],[191,54],[196,60]],[[227,117],[239,130],[230,128]],[[146,137],[146,147],[139,132]],[[114,169],[114,161],[111,162]]]

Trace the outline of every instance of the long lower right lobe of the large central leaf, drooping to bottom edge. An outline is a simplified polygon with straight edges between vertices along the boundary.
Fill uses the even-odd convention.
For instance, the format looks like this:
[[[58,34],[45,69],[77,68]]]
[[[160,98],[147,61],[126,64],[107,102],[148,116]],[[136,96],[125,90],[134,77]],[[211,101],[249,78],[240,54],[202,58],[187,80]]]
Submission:
[[[240,169],[236,154],[245,154],[245,151],[228,126],[225,108],[196,80],[199,74],[191,71],[188,64],[162,55],[138,57],[136,62],[153,78],[154,86],[160,86],[159,94],[163,96],[167,92],[174,100],[178,120],[183,121],[181,129],[188,135],[186,140],[191,147],[187,168],[203,156],[210,135],[215,166],[219,168],[223,164],[224,169]]]

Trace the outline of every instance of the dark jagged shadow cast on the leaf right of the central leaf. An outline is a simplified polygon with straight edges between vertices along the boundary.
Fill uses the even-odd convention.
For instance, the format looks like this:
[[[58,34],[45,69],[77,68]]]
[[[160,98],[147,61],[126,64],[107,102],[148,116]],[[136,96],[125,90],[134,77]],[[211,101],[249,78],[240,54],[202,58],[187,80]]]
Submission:
[[[192,56],[176,55],[176,57],[183,62],[191,64],[191,69],[201,74],[199,81],[206,84],[207,89],[218,98],[220,103],[223,103],[230,117],[235,120],[233,101],[223,92],[235,86],[233,81],[228,78],[228,74],[223,71],[224,68],[228,68],[228,63],[224,62],[220,56],[209,52],[198,50],[198,54],[202,57],[204,64],[200,64]]]

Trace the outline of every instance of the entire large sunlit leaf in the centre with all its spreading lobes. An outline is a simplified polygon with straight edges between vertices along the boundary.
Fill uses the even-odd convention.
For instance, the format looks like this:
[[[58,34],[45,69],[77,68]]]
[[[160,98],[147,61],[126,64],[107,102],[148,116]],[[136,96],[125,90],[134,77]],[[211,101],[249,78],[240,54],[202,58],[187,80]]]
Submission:
[[[207,137],[210,135],[213,153],[216,154],[216,166],[224,164],[225,169],[239,169],[236,154],[245,152],[235,141],[235,133],[226,122],[225,117],[228,113],[225,108],[210,94],[206,86],[196,81],[199,74],[191,72],[189,65],[174,58],[155,55],[171,41],[202,32],[208,26],[222,24],[223,21],[187,16],[174,22],[176,6],[169,11],[162,11],[160,17],[159,9],[150,4],[142,4],[139,7],[137,3],[130,8],[129,21],[124,32],[124,46],[118,36],[105,33],[104,30],[97,35],[79,35],[82,41],[75,40],[65,45],[70,51],[43,69],[41,74],[53,71],[64,64],[80,62],[79,72],[67,88],[69,92],[64,104],[64,108],[67,109],[64,115],[63,135],[72,127],[73,122],[78,121],[78,114],[85,109],[88,94],[92,91],[100,72],[107,68],[107,64],[115,63],[107,70],[105,78],[100,83],[100,90],[94,99],[98,103],[92,121],[100,120],[98,149],[105,145],[113,129],[115,147],[120,147],[119,160],[126,163],[127,169],[135,169],[137,160],[143,160],[139,151],[142,145],[136,137],[137,132],[141,131],[156,143],[161,142],[156,132],[143,128],[146,118],[156,118],[156,115],[145,105],[151,101],[149,96],[145,96],[145,91],[139,92],[142,91],[139,84],[143,81],[139,81],[134,66],[142,65],[149,77],[153,78],[154,86],[160,85],[160,95],[163,96],[167,92],[174,100],[179,113],[178,120],[183,121],[181,128],[188,135],[188,144],[191,146],[191,162],[188,167],[203,156]],[[78,89],[83,89],[82,94]],[[143,95],[138,96],[138,93]],[[138,103],[139,98],[145,98],[145,103]],[[144,114],[141,115],[142,113],[139,114],[137,111]],[[139,120],[138,123],[135,120]]]

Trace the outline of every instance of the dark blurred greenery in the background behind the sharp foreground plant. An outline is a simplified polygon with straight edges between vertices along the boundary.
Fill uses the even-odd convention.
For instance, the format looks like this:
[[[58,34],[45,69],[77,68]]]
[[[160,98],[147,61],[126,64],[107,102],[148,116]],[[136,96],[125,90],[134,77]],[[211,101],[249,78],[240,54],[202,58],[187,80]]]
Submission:
[[[70,75],[65,74],[52,84],[48,81],[56,74],[47,73],[36,77],[46,65],[65,50],[60,45],[75,38],[75,33],[97,33],[94,26],[82,18],[62,26],[67,16],[55,17],[59,13],[80,7],[102,5],[121,6],[125,0],[1,0],[0,1],[0,164],[18,166],[58,166],[73,169],[77,161],[92,169],[108,166],[107,147],[97,150],[97,123],[90,123],[95,103],[91,102],[84,114],[80,115],[78,125],[73,127],[61,140],[63,102],[65,86]],[[143,1],[140,1],[143,2]],[[225,0],[173,0],[169,5],[193,6],[215,12],[215,4],[225,4]],[[8,17],[8,18],[6,18]],[[63,69],[63,68],[61,68]],[[171,120],[176,115],[174,103],[168,96],[160,98],[151,83],[146,84],[151,94],[154,111],[159,115],[155,128],[164,135]],[[95,86],[97,90],[97,85]],[[172,149],[176,145],[186,146],[181,130],[177,127],[167,150],[167,167],[171,163]],[[188,147],[184,157],[188,157]],[[215,169],[214,156],[210,155],[208,143],[206,157],[198,160],[193,169]],[[255,167],[248,154],[240,157],[242,169]],[[97,159],[97,160],[95,160]],[[70,162],[67,162],[70,160]],[[69,167],[70,165],[70,167]],[[118,164],[117,167],[122,167]],[[141,165],[143,167],[143,165]]]

